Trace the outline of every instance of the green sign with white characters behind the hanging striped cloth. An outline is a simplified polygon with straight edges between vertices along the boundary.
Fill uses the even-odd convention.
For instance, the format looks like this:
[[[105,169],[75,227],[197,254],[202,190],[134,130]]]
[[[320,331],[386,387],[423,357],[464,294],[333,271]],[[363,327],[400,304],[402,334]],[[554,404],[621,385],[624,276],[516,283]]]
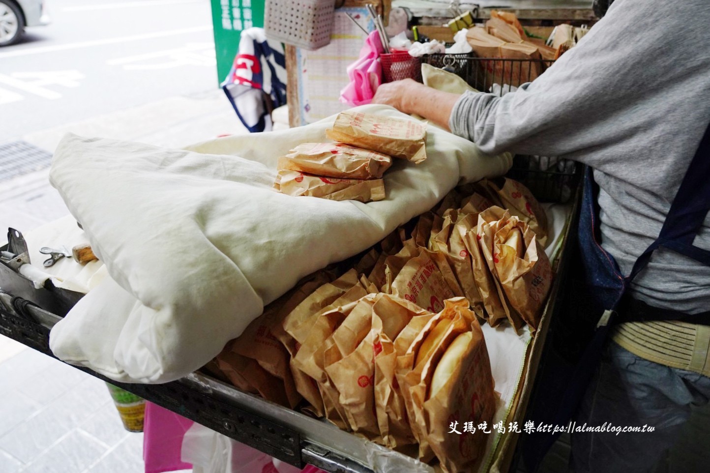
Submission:
[[[239,49],[241,31],[264,26],[265,0],[212,0],[214,51],[217,54],[217,82],[229,74]]]

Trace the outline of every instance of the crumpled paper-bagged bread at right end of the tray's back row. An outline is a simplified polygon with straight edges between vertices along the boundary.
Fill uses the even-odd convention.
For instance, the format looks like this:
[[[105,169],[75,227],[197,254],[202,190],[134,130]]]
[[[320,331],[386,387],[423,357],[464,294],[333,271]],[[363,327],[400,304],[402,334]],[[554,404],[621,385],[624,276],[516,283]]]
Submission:
[[[496,273],[510,305],[537,329],[540,312],[552,286],[552,268],[545,250],[530,227],[510,217],[493,238],[498,258]]]

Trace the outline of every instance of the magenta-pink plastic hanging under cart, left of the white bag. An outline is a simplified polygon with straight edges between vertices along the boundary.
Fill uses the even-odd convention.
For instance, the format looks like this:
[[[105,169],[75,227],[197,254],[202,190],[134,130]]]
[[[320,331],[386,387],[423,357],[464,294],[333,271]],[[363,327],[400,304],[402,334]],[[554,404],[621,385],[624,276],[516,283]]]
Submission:
[[[146,473],[192,469],[192,464],[180,460],[182,437],[192,424],[192,420],[146,401],[146,417],[143,420]]]

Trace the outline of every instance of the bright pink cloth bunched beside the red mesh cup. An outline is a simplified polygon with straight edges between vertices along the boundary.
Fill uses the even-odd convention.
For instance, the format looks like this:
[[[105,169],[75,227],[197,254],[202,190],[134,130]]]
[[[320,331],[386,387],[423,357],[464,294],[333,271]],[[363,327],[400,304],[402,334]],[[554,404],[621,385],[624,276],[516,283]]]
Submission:
[[[340,91],[340,102],[352,106],[372,102],[377,87],[382,83],[379,56],[383,50],[377,31],[372,31],[360,50],[359,59],[347,68],[350,83]]]

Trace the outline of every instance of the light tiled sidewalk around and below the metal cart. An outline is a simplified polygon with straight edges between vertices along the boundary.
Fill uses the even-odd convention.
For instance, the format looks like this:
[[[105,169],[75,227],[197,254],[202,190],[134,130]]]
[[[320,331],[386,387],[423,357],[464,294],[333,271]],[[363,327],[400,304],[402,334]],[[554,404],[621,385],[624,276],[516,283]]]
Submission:
[[[67,132],[180,148],[246,129],[222,90],[215,89],[20,139],[52,153]],[[12,161],[9,166],[23,164],[21,157]],[[48,166],[45,156],[31,173],[13,178],[0,167],[0,244],[8,227],[27,233],[69,213],[49,183]],[[103,381],[0,335],[0,472],[143,471],[143,434],[124,430]]]

